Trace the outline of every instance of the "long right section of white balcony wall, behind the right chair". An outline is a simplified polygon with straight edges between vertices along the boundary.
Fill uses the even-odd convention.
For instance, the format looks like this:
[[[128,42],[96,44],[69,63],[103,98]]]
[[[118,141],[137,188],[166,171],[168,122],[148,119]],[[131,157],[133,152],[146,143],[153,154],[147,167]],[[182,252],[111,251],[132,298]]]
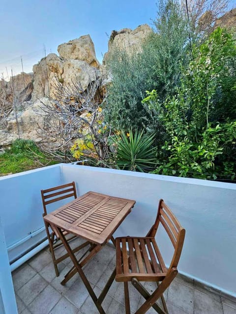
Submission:
[[[236,184],[79,165],[62,165],[62,176],[76,181],[80,195],[93,190],[136,200],[116,236],[146,235],[163,198],[186,229],[180,272],[236,296]],[[157,240],[168,260],[168,239]]]

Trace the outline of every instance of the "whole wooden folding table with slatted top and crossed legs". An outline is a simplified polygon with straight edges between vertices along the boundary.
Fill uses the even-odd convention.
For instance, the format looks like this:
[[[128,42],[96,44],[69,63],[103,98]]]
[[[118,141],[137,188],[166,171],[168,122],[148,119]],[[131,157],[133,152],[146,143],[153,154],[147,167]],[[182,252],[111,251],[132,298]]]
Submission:
[[[89,262],[110,239],[115,245],[113,234],[124,218],[130,213],[134,204],[135,201],[133,200],[90,191],[47,214],[43,218],[51,226],[54,226],[68,255],[74,263],[74,267],[65,275],[61,284],[64,285],[78,272],[100,314],[105,314],[101,304],[115,278],[116,269],[113,271],[100,296],[97,298],[82,267]],[[78,235],[92,244],[79,261],[77,261],[68,241],[62,233],[64,230],[71,234]]]

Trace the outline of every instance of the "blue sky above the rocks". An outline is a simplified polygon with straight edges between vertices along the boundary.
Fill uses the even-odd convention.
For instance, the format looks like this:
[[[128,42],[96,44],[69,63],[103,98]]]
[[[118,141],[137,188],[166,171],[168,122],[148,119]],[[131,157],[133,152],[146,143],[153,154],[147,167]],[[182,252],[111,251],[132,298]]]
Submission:
[[[156,0],[1,0],[0,76],[22,71],[46,54],[57,53],[59,44],[89,34],[97,59],[107,52],[113,29],[151,25]],[[236,0],[230,0],[230,5]],[[7,68],[7,72],[6,72]]]

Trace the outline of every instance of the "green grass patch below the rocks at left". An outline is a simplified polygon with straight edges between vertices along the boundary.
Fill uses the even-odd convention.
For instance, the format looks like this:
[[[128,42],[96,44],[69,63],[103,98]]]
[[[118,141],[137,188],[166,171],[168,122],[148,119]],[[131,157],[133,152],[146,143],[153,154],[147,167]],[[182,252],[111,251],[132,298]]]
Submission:
[[[12,143],[8,151],[0,155],[0,176],[56,163],[58,162],[49,162],[33,141],[18,139]]]

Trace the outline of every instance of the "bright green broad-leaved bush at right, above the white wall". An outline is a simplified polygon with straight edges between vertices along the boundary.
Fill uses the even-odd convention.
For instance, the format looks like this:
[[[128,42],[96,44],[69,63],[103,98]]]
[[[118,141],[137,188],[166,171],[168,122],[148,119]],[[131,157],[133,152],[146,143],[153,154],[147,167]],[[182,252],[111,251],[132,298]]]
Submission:
[[[217,28],[183,71],[177,95],[143,104],[163,126],[155,173],[232,180],[236,175],[236,44]]]

